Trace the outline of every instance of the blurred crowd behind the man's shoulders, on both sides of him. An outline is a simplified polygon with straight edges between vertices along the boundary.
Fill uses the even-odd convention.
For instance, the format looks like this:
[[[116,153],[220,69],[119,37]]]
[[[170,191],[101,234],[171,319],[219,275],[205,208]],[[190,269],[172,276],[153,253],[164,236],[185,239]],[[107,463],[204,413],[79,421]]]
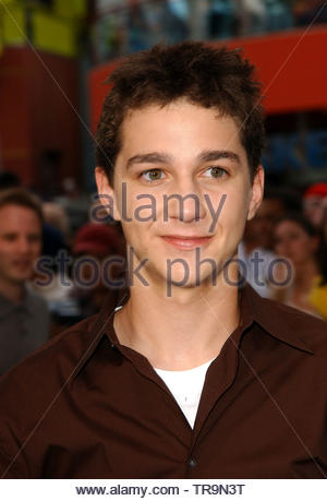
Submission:
[[[62,199],[43,201],[0,174],[0,373],[126,294],[121,226],[96,196],[83,224],[71,223]],[[326,247],[327,183],[268,187],[239,246],[240,272],[262,296],[327,321]]]

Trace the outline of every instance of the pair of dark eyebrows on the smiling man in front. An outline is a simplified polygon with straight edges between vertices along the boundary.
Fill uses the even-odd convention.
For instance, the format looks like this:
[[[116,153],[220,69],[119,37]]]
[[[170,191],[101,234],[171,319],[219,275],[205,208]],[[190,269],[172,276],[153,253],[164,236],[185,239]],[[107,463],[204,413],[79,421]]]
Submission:
[[[237,164],[241,164],[240,156],[228,150],[204,150],[197,155],[197,160],[199,162],[215,162],[226,158],[232,160]],[[144,153],[140,155],[134,155],[128,159],[126,168],[129,169],[133,164],[168,164],[173,162],[173,156],[168,153]]]

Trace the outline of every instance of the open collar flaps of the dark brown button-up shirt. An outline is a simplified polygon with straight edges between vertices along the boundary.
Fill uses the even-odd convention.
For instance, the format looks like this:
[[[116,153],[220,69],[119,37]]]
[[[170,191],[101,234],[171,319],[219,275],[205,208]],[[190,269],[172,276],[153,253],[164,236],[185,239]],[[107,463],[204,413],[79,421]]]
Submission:
[[[123,290],[116,299],[116,307],[124,305],[129,300],[129,291]],[[296,335],[299,330],[299,315],[303,313],[293,309],[293,314],[290,314],[288,307],[276,301],[267,300],[262,298],[249,283],[245,283],[239,290],[239,300],[241,309],[241,330],[245,332],[249,327],[256,323],[274,336],[276,339],[286,343],[287,345],[313,354],[314,351],[307,346],[307,344]],[[85,351],[81,357],[75,371],[74,377],[77,375],[82,367],[89,360],[95,350],[97,349],[100,341],[107,336],[114,349],[120,345],[117,334],[113,329],[113,317],[114,309],[110,310],[109,305],[112,305],[111,298],[108,295],[100,312],[95,317],[95,322],[87,335],[87,345]],[[307,315],[305,315],[307,317]]]

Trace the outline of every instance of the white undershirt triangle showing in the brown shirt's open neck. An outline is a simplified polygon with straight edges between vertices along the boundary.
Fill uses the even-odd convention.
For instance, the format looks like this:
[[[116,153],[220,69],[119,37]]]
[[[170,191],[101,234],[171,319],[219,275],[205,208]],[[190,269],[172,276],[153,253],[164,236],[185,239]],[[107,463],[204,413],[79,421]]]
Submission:
[[[173,394],[191,428],[194,426],[206,372],[213,360],[189,370],[154,368]]]

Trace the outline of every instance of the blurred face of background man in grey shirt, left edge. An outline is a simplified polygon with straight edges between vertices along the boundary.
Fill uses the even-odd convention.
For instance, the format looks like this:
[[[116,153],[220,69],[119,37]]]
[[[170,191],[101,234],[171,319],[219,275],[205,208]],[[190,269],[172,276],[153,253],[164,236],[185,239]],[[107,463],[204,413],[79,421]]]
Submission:
[[[41,223],[35,211],[20,205],[0,208],[0,278],[22,284],[31,278],[41,250]]]

